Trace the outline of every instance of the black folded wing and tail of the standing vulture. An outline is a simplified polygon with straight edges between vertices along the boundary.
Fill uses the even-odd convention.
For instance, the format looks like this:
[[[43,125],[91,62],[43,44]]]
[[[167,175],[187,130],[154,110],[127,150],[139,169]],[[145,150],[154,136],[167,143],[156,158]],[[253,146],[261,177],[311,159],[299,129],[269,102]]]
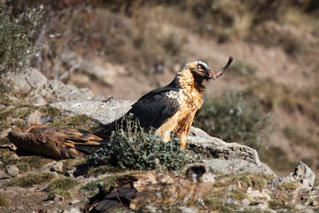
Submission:
[[[168,92],[177,94],[179,89],[174,87],[164,87],[155,91],[150,91],[141,99],[138,99],[127,114],[118,120],[105,124],[93,133],[101,138],[109,138],[113,130],[125,127],[126,118],[133,114],[132,120],[138,121],[143,128],[159,128],[168,118],[173,116],[179,109],[180,104],[177,97],[168,96]]]

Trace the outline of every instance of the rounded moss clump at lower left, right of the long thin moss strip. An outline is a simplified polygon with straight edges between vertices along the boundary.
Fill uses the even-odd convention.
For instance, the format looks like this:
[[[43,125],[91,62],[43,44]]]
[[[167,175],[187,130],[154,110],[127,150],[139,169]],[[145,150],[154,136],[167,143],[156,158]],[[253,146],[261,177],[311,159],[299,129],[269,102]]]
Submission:
[[[68,190],[74,188],[74,186],[78,185],[78,181],[69,177],[60,177],[53,180],[50,185],[45,189],[48,192],[48,199],[52,200],[56,194],[70,198],[72,197],[72,193],[68,192]]]

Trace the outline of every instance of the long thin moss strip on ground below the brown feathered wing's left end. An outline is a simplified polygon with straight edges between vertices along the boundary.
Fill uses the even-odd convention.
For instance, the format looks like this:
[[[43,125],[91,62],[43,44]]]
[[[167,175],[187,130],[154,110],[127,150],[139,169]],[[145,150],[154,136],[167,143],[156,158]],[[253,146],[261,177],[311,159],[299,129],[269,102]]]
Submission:
[[[40,173],[40,174],[27,174],[25,177],[14,177],[9,182],[9,186],[20,186],[20,187],[32,187],[33,185],[39,185],[46,183],[55,178],[54,175],[50,173]]]

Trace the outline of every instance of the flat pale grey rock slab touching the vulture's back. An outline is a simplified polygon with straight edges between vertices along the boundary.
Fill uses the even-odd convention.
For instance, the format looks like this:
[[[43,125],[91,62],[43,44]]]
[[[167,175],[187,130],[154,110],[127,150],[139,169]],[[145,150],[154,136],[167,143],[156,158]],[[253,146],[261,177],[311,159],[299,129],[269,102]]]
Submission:
[[[71,114],[87,114],[97,122],[108,123],[127,113],[134,103],[129,100],[109,99],[107,102],[65,101],[52,103],[50,106]]]

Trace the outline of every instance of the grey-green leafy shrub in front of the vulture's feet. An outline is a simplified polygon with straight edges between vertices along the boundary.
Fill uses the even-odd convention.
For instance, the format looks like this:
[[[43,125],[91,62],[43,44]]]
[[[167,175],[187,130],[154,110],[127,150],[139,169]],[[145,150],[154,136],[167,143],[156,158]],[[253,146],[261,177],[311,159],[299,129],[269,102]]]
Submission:
[[[94,164],[134,170],[155,169],[156,164],[158,169],[178,170],[195,158],[182,151],[178,138],[172,137],[164,143],[159,136],[145,133],[133,122],[128,123],[128,131],[114,131],[111,140],[91,156]]]

